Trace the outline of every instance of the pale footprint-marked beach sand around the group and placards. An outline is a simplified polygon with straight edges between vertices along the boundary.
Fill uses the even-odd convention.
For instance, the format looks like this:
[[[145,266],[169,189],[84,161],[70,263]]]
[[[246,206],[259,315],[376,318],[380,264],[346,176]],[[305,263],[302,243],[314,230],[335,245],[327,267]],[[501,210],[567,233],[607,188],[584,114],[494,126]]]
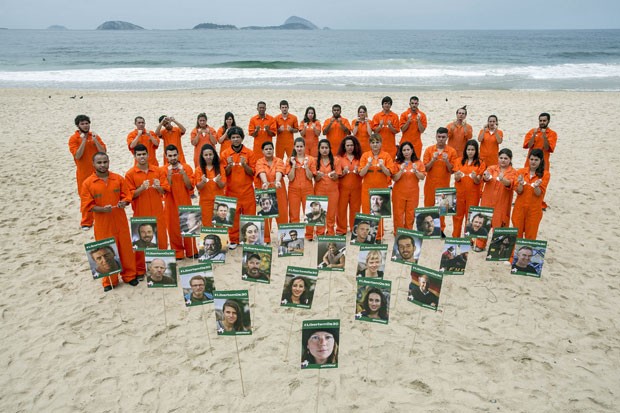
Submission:
[[[357,247],[349,248],[344,274],[320,273],[311,310],[280,308],[279,299],[286,266],[315,266],[316,243],[301,259],[278,259],[274,252],[270,285],[241,281],[239,248],[215,268],[218,289],[249,289],[253,334],[237,339],[217,337],[212,305],[186,308],[180,287],[147,290],[142,283],[106,294],[92,279],[83,245],[93,241],[93,233],[79,228],[67,148],[74,117],[91,117],[91,129],[108,145],[111,170],[124,173],[132,165],[126,135],[137,115],[146,117],[150,129],[159,115],[174,116],[189,135],[203,111],[217,128],[231,110],[245,129],[258,100],[268,103],[272,115],[283,98],[298,116],[312,105],[323,121],[333,103],[349,119],[360,104],[375,113],[383,94],[233,89],[1,94],[7,157],[0,166],[0,410],[620,409],[620,290],[613,255],[620,239],[614,218],[620,94],[419,94],[429,117],[425,147],[434,143],[437,127],[467,104],[475,134],[488,115],[499,117],[502,147],[514,151],[519,167],[524,134],[538,125],[540,112],[552,114],[550,127],[559,140],[551,158],[550,208],[539,232],[548,241],[542,278],[511,275],[507,264],[470,253],[465,275],[444,279],[440,310],[434,312],[407,301],[406,267],[389,262],[392,308],[385,326],[354,320]],[[406,109],[410,93],[391,96],[396,112]],[[185,139],[185,153],[191,154]],[[250,146],[251,139],[245,143]],[[451,219],[447,222],[450,231]],[[392,241],[388,236],[390,248]],[[438,268],[440,247],[439,240],[425,242],[420,264]],[[327,318],[341,320],[339,367],[302,371],[301,322]]]

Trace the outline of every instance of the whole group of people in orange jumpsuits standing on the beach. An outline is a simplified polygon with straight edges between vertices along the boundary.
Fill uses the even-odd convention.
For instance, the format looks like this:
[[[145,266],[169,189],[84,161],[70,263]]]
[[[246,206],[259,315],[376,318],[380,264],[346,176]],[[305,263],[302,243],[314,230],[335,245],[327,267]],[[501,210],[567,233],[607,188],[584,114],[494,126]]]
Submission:
[[[527,162],[516,170],[510,149],[499,150],[503,134],[494,115],[489,116],[477,139],[472,139],[467,109],[459,108],[456,120],[438,128],[436,143],[422,153],[427,119],[419,109],[419,99],[412,96],[410,107],[400,116],[391,110],[390,97],[384,97],[381,105],[382,110],[372,119],[366,107],[360,106],[351,122],[342,116],[340,105],[333,105],[331,117],[321,125],[313,107],[298,121],[285,100],[275,117],[266,113],[265,102],[259,102],[258,113],[248,125],[248,134],[254,139],[252,149],[244,146],[246,134],[231,112],[217,131],[201,113],[190,133],[194,168],[186,163],[181,141],[186,128],[178,120],[162,115],[156,130],[149,131],[139,116],[127,136],[135,163],[124,177],[108,170],[105,143],[90,130],[90,119],[79,115],[69,149],[76,164],[82,228],[94,226],[97,240],[116,239],[123,264],[121,277],[132,282],[145,273],[145,264],[144,253],[132,248],[124,213],[129,204],[135,217],[156,217],[158,247],[167,249],[170,243],[177,259],[182,259],[196,257],[198,252],[193,238],[182,237],[178,215],[179,206],[192,204],[194,191],[199,196],[203,226],[217,224],[218,218],[232,218],[229,248],[234,249],[240,242],[239,217],[256,215],[255,188],[275,188],[278,224],[302,222],[306,197],[327,196],[325,225],[316,227],[316,232],[343,235],[353,230],[360,210],[384,213],[385,206],[372,205],[369,191],[391,187],[396,232],[413,227],[420,181],[425,181],[424,206],[433,206],[435,190],[449,187],[454,175],[457,205],[453,236],[460,236],[468,208],[482,205],[494,208],[493,227],[509,226],[512,212],[512,225],[519,229],[519,237],[536,238],[549,182],[549,155],[557,141],[556,133],[548,128],[548,113],[540,114],[539,126],[525,136]],[[402,137],[397,145],[398,133]],[[159,166],[156,152],[161,140],[165,156]],[[517,197],[512,209],[514,192]],[[234,217],[213,216],[218,195],[236,198]],[[442,217],[442,234],[444,228]],[[383,232],[381,220],[377,242]],[[270,233],[271,219],[266,219],[265,243],[271,241]],[[313,235],[314,227],[306,227],[305,238],[312,240]],[[103,279],[106,291],[116,283],[116,276]]]

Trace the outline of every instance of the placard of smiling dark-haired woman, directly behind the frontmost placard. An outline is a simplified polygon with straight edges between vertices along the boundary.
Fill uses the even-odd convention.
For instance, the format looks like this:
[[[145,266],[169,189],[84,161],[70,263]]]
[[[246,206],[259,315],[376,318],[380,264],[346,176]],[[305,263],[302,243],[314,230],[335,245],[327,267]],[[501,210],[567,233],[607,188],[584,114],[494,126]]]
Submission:
[[[286,267],[282,307],[311,308],[319,271],[314,268]]]

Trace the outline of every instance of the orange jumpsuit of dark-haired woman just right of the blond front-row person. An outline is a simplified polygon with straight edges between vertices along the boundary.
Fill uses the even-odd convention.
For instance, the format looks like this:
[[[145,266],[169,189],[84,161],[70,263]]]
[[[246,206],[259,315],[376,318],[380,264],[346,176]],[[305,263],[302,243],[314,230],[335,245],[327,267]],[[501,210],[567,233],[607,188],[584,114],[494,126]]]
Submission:
[[[394,217],[394,235],[398,228],[413,229],[415,209],[420,204],[420,179],[413,172],[413,165],[426,175],[424,164],[419,159],[410,162],[398,181],[392,187],[392,209]],[[401,163],[394,163],[395,174],[400,171]]]

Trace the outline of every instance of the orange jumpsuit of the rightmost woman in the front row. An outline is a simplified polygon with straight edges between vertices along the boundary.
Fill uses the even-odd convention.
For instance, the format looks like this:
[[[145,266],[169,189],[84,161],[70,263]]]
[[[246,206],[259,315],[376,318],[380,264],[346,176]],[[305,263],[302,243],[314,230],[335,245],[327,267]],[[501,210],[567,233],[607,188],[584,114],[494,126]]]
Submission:
[[[536,175],[530,178],[529,168],[519,169],[516,175],[517,176],[514,181],[515,192],[519,186],[517,181],[517,177],[519,175],[523,176],[524,184],[523,192],[521,195],[517,194],[515,206],[512,210],[512,226],[519,230],[517,232],[517,237],[536,239],[536,235],[538,234],[538,226],[540,225],[543,215],[542,203],[545,197],[545,192],[547,191],[547,185],[549,184],[549,171],[545,171],[542,178],[539,178]],[[539,186],[541,193],[539,196],[536,196],[534,193],[534,188],[532,188],[531,184],[536,182],[538,179],[542,179],[542,183]]]

